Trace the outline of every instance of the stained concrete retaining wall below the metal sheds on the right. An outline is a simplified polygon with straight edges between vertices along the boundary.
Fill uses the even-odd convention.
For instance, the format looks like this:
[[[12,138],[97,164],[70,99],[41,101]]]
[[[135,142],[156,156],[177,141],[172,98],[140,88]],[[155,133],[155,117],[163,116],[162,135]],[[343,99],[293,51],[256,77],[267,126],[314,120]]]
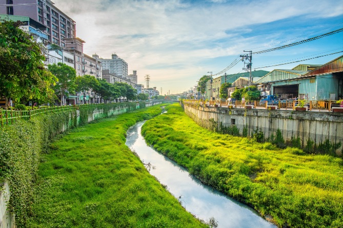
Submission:
[[[331,143],[343,143],[343,113],[332,112],[304,112],[290,110],[265,110],[265,109],[229,109],[201,107],[184,104],[185,113],[201,127],[210,128],[210,119],[224,127],[235,125],[239,133],[243,128],[248,128],[248,135],[256,129],[264,133],[265,138],[276,135],[279,129],[285,141],[299,138],[302,147],[310,139],[316,145],[329,139]],[[336,150],[341,155],[342,147]]]

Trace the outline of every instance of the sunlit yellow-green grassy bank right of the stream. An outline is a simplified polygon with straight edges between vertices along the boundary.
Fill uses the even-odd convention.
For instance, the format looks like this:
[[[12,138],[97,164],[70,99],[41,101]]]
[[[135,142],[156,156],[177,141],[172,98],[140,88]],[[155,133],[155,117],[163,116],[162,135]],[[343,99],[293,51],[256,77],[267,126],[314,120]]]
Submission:
[[[142,134],[203,182],[273,217],[280,227],[343,227],[341,158],[213,133],[179,105],[167,109],[147,121]]]

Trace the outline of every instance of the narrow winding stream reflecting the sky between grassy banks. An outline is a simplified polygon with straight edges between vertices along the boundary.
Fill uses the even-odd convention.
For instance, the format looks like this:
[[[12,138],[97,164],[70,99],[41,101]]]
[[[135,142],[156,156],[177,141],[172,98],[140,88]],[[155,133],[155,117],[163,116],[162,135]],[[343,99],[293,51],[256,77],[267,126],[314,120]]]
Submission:
[[[147,146],[140,134],[144,122],[139,122],[129,129],[126,145],[135,151],[144,163],[150,162],[155,167],[150,169],[150,174],[167,185],[169,192],[178,198],[188,212],[204,221],[213,217],[220,228],[276,227],[249,206],[202,184],[186,169]]]

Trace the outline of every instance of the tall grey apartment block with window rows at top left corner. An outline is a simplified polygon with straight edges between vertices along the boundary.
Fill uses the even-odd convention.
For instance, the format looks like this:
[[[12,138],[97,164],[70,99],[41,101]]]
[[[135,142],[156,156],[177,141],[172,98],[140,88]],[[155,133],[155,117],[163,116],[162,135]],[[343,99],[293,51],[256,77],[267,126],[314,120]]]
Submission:
[[[76,36],[76,23],[50,0],[0,0],[0,14],[28,16],[41,24],[48,40],[65,47],[64,38]]]

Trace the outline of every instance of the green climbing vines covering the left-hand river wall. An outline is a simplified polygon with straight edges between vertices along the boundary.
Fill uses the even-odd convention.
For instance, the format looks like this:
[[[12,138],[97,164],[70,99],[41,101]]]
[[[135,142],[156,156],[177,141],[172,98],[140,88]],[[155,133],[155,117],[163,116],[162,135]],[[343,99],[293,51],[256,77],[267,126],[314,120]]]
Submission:
[[[143,108],[144,105],[140,103],[140,107]],[[30,121],[17,120],[12,125],[0,128],[0,182],[4,179],[9,182],[10,207],[16,215],[18,227],[26,227],[32,212],[38,164],[41,155],[48,151],[50,141],[60,132],[75,127],[77,123],[87,123],[89,116],[95,111],[95,118],[104,118],[117,113],[112,111],[115,108],[134,110],[136,103],[77,106],[79,117],[76,109],[62,109],[35,116]],[[103,113],[98,113],[101,110]]]

